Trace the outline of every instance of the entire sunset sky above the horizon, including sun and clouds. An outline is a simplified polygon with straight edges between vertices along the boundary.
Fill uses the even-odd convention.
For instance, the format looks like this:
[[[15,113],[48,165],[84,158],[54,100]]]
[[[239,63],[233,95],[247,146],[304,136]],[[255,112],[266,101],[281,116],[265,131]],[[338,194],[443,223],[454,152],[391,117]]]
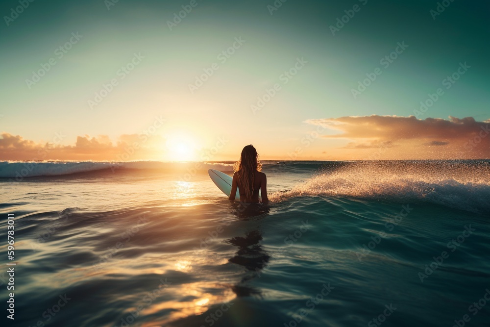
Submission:
[[[490,158],[489,9],[1,1],[0,160]]]

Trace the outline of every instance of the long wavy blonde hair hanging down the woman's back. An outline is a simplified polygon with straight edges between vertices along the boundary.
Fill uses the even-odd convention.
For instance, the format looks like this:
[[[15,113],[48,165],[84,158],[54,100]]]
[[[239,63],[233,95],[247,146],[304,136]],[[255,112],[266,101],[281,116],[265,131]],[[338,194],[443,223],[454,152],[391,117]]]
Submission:
[[[253,182],[255,179],[255,171],[262,170],[262,164],[259,161],[259,154],[253,145],[247,145],[242,150],[240,160],[235,162],[233,170],[237,173],[240,184],[244,188],[245,196],[251,199],[253,196]]]

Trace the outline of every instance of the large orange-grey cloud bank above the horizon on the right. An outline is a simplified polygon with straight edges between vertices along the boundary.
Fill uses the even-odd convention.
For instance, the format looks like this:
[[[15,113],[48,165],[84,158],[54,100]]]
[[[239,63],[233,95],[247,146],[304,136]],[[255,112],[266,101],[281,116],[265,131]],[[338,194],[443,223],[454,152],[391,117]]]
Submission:
[[[339,149],[378,149],[378,154],[381,149],[383,155],[378,156],[383,159],[490,158],[490,119],[477,122],[473,117],[419,120],[414,116],[371,115],[310,119],[306,123],[340,132],[322,138],[351,141]],[[355,152],[349,153],[352,156]],[[366,156],[368,152],[360,159]]]

